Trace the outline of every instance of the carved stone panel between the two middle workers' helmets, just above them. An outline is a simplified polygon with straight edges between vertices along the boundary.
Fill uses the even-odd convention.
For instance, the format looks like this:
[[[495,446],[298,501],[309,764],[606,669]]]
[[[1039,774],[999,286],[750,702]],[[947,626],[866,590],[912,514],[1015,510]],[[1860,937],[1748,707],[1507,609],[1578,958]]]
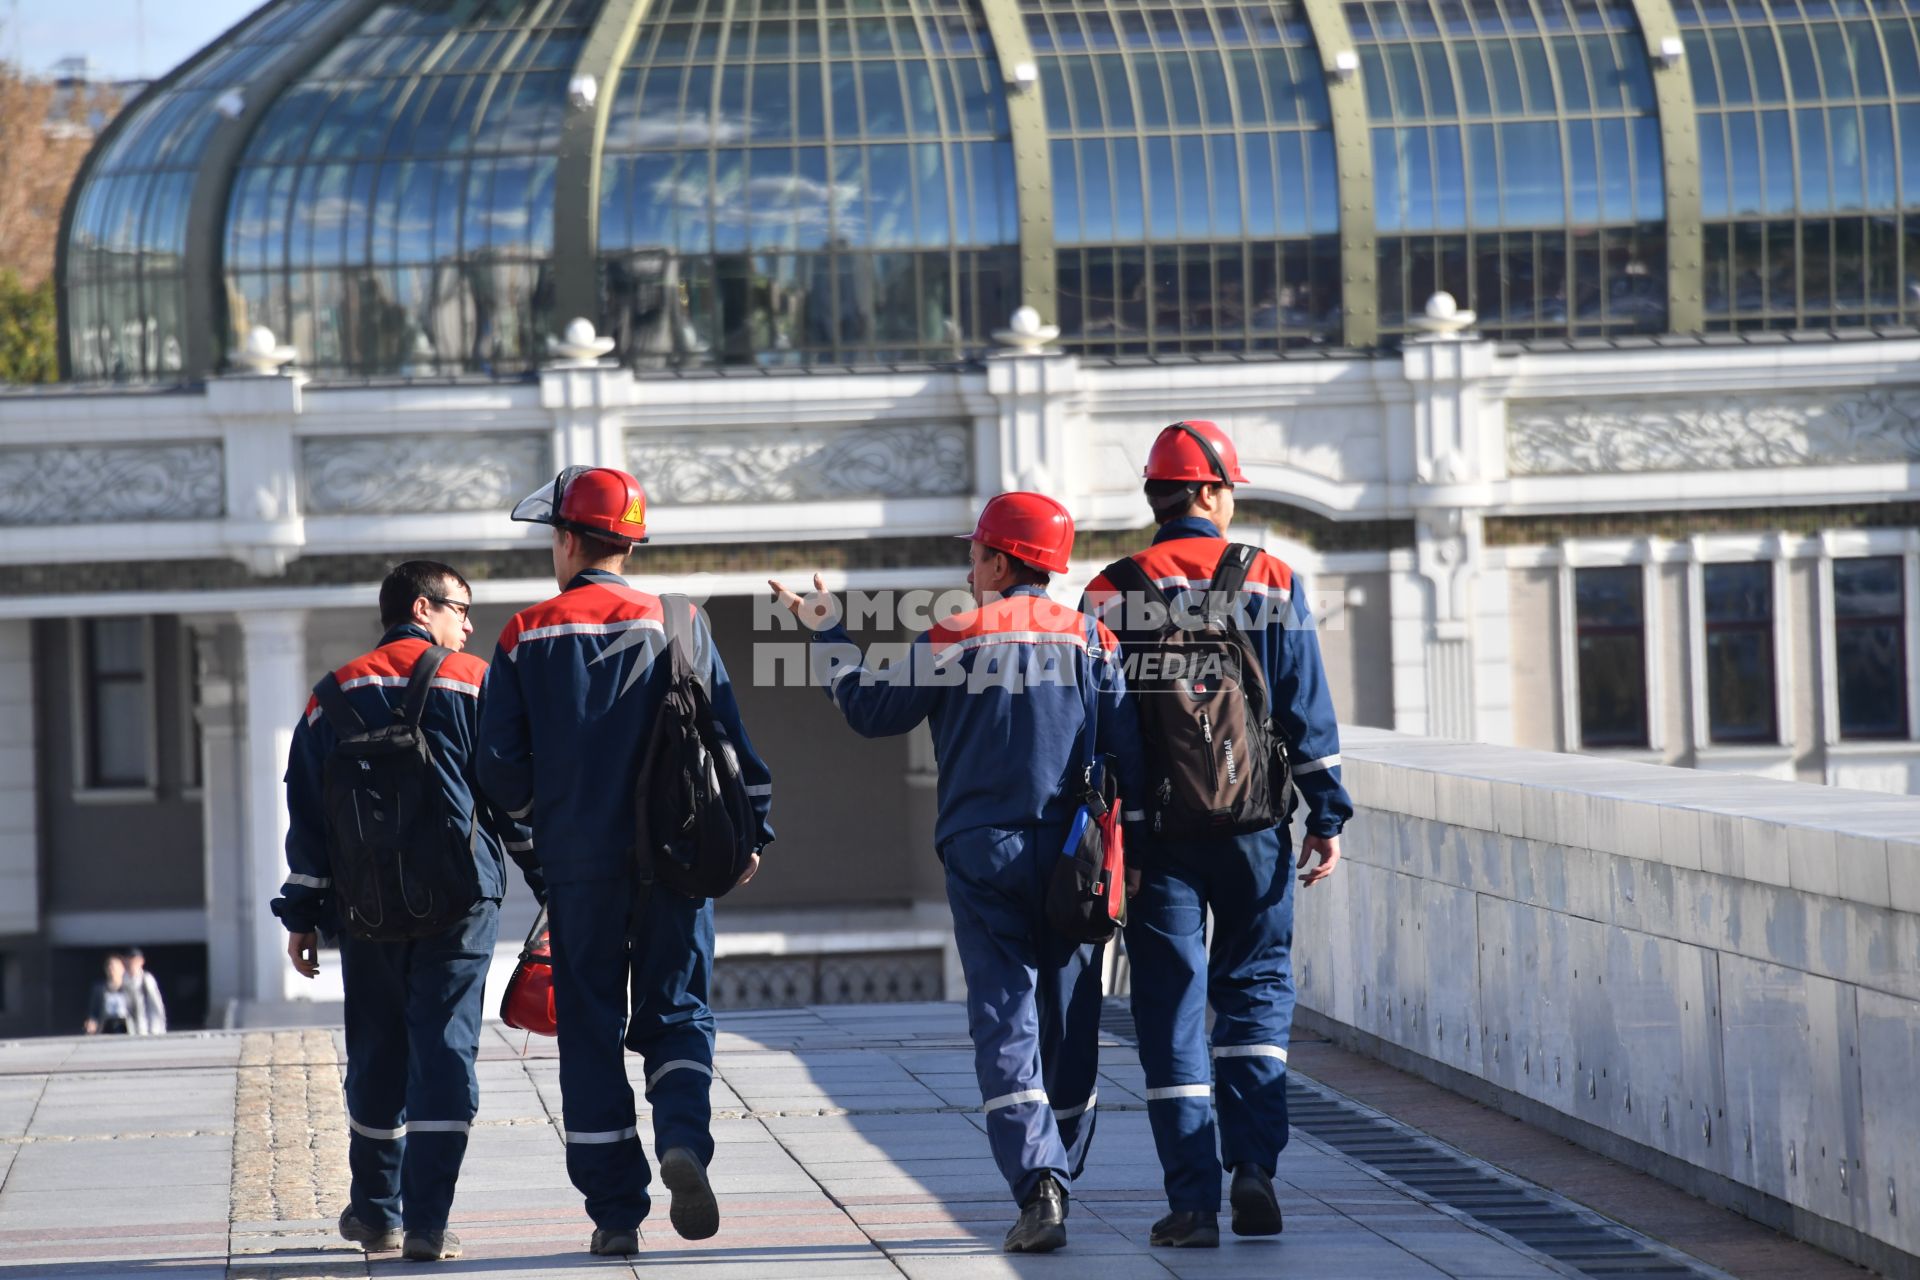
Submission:
[[[628,432],[628,466],[659,503],[950,497],[973,489],[966,424]]]

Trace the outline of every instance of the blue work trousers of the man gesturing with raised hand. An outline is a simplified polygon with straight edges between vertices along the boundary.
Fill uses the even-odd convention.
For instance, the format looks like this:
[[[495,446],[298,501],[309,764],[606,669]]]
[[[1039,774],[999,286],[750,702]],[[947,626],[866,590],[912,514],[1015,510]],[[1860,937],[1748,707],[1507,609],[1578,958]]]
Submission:
[[[1066,837],[1066,823],[973,827],[941,844],[987,1142],[1016,1203],[1043,1174],[1068,1186],[1092,1146],[1102,948],[1046,923]]]

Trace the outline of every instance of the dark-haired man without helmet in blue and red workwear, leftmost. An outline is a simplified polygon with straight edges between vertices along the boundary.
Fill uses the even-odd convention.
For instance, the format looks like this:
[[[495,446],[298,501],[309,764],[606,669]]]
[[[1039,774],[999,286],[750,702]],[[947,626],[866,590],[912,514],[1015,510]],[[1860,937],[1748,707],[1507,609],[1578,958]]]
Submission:
[[[380,585],[378,649],[353,658],[334,679],[369,725],[399,716],[413,666],[428,645],[447,654],[434,674],[420,727],[455,821],[476,823],[472,837],[480,902],[453,929],[411,942],[378,942],[342,933],[340,977],[348,1025],[348,1167],[353,1190],[340,1234],[367,1249],[399,1249],[413,1261],[461,1255],[447,1230],[453,1184],[467,1155],[467,1132],[480,1105],[474,1055],[480,1002],[499,900],[507,889],[501,850],[526,873],[534,896],[543,885],[532,833],[495,812],[474,787],[474,741],[486,662],[459,652],[472,624],[472,589],[451,566],[409,560]],[[338,743],[319,699],[294,725],[286,762],[286,885],[273,912],[286,925],[288,956],[303,977],[319,973],[319,931],[340,929],[328,860],[324,768]],[[405,1224],[405,1234],[401,1234]]]

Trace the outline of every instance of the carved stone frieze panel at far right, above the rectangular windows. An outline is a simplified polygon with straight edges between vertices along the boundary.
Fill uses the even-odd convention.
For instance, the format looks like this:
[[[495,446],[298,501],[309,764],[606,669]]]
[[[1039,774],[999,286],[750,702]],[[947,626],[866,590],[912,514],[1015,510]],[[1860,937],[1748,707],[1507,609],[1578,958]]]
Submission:
[[[1920,386],[1515,403],[1507,461],[1519,476],[1920,461]]]

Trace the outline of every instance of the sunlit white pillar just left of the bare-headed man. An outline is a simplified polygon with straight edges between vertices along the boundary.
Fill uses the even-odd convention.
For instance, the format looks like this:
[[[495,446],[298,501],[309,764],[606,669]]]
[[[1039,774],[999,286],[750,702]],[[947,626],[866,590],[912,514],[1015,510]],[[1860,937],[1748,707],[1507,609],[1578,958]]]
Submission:
[[[307,610],[276,608],[240,614],[246,672],[246,741],[240,750],[240,794],[246,814],[246,921],[250,929],[242,996],[286,1000],[286,929],[269,902],[286,879],[286,752],[294,723],[307,706]]]

